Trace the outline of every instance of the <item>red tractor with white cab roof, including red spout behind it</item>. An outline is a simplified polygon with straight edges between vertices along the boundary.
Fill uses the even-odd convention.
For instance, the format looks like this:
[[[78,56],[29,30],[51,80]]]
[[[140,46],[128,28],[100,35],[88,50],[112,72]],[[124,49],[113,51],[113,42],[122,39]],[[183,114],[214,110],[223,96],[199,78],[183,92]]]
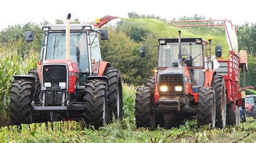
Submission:
[[[96,128],[107,119],[122,119],[120,70],[102,61],[100,39],[107,39],[101,26],[116,17],[96,23],[46,25],[37,69],[15,75],[11,85],[10,123],[84,119]],[[34,32],[26,32],[26,41]],[[108,118],[109,116],[109,118]]]

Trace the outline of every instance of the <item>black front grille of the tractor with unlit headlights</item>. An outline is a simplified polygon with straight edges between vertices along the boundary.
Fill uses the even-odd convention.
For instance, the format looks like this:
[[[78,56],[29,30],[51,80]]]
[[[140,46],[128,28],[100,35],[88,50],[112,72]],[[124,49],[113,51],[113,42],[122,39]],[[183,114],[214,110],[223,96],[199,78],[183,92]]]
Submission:
[[[51,82],[54,87],[58,87],[59,82],[66,82],[67,69],[65,65],[44,65],[43,66],[43,81]]]

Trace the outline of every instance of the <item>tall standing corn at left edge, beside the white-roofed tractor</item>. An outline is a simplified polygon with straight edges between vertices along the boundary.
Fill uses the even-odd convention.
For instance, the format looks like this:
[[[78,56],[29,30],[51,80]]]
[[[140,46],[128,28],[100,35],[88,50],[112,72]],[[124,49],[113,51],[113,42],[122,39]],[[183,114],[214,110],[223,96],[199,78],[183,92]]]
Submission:
[[[36,68],[37,56],[33,51],[22,55],[18,49],[0,48],[0,126],[8,125],[12,76],[26,75],[30,69]]]

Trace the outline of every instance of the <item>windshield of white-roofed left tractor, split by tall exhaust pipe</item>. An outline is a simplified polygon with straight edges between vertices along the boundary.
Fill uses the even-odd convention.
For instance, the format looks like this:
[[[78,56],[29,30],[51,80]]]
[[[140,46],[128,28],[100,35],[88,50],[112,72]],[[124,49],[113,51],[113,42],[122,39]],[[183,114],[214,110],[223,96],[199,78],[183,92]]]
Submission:
[[[48,33],[46,58],[66,59],[66,34],[65,32]],[[89,72],[89,58],[86,32],[70,32],[70,60],[78,63],[80,71]],[[87,61],[87,62],[86,62]]]

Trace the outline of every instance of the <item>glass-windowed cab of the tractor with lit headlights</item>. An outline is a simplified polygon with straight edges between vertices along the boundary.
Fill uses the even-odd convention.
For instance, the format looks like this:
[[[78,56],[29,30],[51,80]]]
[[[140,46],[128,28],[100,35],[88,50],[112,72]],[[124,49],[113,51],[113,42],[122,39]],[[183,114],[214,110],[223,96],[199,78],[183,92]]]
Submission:
[[[179,39],[159,39],[158,76],[184,73],[193,84],[203,86],[204,54],[201,38],[181,39],[181,60],[179,68]],[[183,72],[187,70],[187,72]],[[187,74],[187,75],[186,75]],[[200,78],[199,78],[200,77]]]

